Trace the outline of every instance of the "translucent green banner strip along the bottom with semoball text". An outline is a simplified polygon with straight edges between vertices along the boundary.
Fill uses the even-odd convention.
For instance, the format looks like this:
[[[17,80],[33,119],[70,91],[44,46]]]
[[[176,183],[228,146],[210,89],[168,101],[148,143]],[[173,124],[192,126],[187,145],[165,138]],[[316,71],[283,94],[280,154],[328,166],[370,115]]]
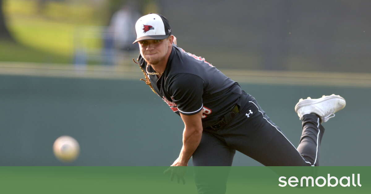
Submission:
[[[169,174],[163,172],[169,167],[0,167],[1,193],[151,193],[191,194],[223,193],[371,193],[371,167],[172,167]],[[177,176],[170,181],[171,171],[183,173],[185,184]],[[324,177],[335,185],[329,187],[319,178],[317,184],[300,187],[301,177]],[[354,174],[354,185],[352,175]],[[359,174],[359,179],[358,179]],[[286,182],[285,187],[280,187]],[[298,178],[298,185],[292,187],[290,177]],[[310,180],[310,178],[309,178]],[[225,184],[225,181],[227,183]],[[292,178],[295,181],[295,178]],[[295,185],[294,182],[290,182]],[[359,186],[361,185],[361,186]],[[202,191],[202,192],[201,192]]]

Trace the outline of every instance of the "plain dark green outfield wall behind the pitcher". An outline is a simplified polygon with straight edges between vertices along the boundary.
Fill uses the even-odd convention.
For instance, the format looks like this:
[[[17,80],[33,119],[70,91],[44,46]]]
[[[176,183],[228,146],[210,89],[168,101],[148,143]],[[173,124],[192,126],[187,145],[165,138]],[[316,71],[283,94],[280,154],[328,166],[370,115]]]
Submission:
[[[240,85],[294,145],[301,135],[298,99],[343,96],[345,109],[324,124],[320,164],[370,166],[371,88]],[[180,117],[138,80],[0,75],[0,124],[0,166],[167,166],[182,145]],[[53,141],[61,135],[78,140],[75,162],[54,157]],[[237,153],[233,165],[261,164]]]

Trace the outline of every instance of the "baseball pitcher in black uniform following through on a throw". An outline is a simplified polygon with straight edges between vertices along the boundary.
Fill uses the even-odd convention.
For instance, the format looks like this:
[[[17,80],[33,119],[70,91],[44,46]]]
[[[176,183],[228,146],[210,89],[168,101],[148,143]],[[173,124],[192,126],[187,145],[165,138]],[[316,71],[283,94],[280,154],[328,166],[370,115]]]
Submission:
[[[174,42],[168,20],[148,14],[135,24],[145,82],[184,122],[183,147],[171,166],[231,166],[237,151],[266,166],[317,166],[323,122],[345,107],[338,95],[301,99],[298,148],[285,137],[256,99],[203,57]],[[134,44],[133,43],[133,44]]]

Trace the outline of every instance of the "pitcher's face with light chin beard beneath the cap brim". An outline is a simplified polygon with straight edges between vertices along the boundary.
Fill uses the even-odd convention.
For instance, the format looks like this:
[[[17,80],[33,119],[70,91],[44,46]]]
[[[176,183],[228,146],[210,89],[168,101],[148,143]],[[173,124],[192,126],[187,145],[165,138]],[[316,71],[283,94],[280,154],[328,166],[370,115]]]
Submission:
[[[145,61],[151,65],[156,65],[165,60],[166,54],[169,51],[170,41],[163,40],[141,40],[138,42],[140,54]]]

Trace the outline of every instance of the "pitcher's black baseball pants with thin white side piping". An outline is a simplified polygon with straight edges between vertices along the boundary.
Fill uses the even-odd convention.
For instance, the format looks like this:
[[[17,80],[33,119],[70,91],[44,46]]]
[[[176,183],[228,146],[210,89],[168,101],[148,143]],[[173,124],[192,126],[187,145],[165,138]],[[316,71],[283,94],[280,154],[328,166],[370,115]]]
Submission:
[[[192,156],[194,166],[231,166],[236,150],[265,166],[318,166],[319,146],[325,131],[318,116],[304,115],[302,136],[295,148],[253,96],[243,93],[238,105],[239,114],[226,127],[203,131]],[[197,187],[199,193],[207,193],[206,185]],[[218,184],[218,187],[222,186]],[[223,188],[220,193],[225,193]]]

